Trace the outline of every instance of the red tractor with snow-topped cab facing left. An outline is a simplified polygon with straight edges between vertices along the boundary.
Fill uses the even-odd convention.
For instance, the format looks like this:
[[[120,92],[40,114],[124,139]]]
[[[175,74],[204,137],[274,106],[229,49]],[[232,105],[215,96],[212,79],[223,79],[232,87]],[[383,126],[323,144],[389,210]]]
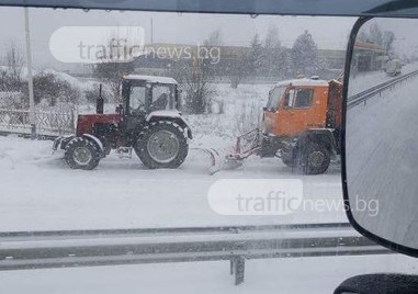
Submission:
[[[78,116],[76,135],[59,137],[54,150],[64,149],[74,169],[91,170],[115,149],[121,158],[134,149],[150,168],[178,168],[189,152],[192,132],[178,111],[178,83],[172,78],[129,75],[122,82],[123,104],[103,114],[99,95],[97,114]]]

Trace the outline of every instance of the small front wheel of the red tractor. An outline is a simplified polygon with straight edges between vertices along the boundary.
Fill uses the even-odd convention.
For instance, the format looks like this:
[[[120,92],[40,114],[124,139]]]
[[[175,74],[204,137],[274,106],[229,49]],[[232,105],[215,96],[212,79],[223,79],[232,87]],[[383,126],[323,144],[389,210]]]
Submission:
[[[64,158],[71,169],[92,170],[99,165],[102,154],[91,140],[77,137],[68,143]]]

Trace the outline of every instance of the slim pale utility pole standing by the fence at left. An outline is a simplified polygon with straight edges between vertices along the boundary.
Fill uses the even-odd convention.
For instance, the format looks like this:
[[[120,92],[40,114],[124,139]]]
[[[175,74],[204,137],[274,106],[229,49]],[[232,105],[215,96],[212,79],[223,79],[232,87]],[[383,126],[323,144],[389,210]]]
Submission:
[[[30,25],[29,25],[27,7],[24,8],[24,24],[25,24],[25,39],[26,39],[26,67],[27,67],[31,138],[35,139],[36,138],[36,117],[35,117],[35,100],[33,97],[32,52],[31,52],[31,34],[30,34]]]

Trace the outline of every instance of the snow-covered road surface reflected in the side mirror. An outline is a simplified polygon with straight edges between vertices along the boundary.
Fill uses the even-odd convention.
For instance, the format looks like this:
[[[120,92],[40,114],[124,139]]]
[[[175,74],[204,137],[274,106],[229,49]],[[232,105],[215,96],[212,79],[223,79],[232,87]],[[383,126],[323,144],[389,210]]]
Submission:
[[[418,78],[411,78],[355,106],[347,116],[349,192],[359,200],[379,201],[375,218],[360,222],[372,231],[404,240],[410,247],[417,246],[417,83]],[[402,217],[393,212],[400,212]],[[396,233],[386,235],[388,228]],[[408,231],[414,234],[405,239]]]

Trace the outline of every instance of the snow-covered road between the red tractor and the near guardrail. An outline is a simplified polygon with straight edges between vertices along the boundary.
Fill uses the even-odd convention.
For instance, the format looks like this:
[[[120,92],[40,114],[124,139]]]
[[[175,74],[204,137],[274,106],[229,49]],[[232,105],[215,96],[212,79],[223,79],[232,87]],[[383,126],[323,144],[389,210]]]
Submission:
[[[53,230],[347,222],[339,167],[296,176],[280,159],[249,160],[208,176],[210,158],[191,152],[178,170],[148,170],[135,156],[102,160],[93,171],[71,170],[50,142],[0,137],[0,230]],[[207,202],[219,179],[302,179],[304,199],[330,203],[286,216],[222,216]]]

